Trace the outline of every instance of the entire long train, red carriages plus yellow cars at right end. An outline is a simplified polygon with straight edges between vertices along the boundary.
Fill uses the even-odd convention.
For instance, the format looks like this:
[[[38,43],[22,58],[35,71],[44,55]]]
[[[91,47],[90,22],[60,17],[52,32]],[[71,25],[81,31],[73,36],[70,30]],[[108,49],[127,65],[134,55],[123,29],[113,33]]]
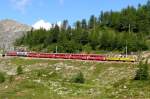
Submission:
[[[22,56],[32,58],[56,58],[56,59],[78,59],[78,60],[96,60],[96,61],[123,61],[135,62],[130,57],[108,57],[98,54],[69,54],[69,53],[37,53],[37,52],[7,52],[6,56]]]

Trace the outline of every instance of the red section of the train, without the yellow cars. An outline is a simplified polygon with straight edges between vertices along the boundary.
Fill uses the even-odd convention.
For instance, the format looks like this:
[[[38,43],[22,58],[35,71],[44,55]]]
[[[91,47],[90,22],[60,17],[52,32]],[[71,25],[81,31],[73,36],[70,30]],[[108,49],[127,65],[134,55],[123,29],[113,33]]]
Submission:
[[[95,54],[65,54],[65,53],[35,53],[35,52],[8,52],[7,56],[23,56],[33,58],[59,58],[59,59],[79,59],[79,60],[97,60],[106,61],[106,56]]]

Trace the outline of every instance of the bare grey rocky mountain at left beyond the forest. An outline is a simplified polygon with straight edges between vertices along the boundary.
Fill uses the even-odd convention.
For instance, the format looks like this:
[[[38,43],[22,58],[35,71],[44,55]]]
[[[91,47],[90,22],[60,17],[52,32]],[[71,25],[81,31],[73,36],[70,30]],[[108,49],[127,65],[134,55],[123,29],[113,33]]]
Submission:
[[[13,43],[17,38],[23,36],[32,27],[21,24],[14,20],[1,20],[0,21],[0,48],[5,50],[12,50]]]

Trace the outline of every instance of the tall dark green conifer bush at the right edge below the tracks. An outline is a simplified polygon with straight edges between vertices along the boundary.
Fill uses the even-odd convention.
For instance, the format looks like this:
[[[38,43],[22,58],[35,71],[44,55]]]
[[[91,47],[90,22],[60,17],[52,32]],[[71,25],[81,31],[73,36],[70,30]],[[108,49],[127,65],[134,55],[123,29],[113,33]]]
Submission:
[[[148,61],[146,60],[143,64],[142,61],[139,62],[139,69],[136,72],[135,80],[148,80],[149,73],[148,73]]]

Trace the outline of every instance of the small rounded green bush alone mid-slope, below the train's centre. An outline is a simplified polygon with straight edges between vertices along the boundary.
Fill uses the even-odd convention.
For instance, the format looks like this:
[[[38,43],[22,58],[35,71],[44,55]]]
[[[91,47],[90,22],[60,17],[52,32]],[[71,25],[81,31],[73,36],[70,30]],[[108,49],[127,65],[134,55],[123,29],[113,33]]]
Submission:
[[[73,83],[84,83],[85,79],[84,79],[83,73],[79,72],[79,73],[75,74],[72,77],[71,82],[73,82]]]

